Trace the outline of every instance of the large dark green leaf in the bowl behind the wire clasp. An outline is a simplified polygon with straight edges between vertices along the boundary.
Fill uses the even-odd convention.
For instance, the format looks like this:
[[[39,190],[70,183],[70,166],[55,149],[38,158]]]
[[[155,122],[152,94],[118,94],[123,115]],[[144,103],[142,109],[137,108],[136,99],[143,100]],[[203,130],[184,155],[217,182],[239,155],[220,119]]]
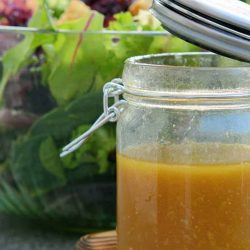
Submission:
[[[91,124],[101,113],[100,97],[100,92],[90,93],[78,98],[66,107],[58,107],[52,110],[41,117],[32,126],[30,132],[13,145],[10,168],[19,188],[23,188],[32,195],[41,195],[44,192],[66,185],[68,179],[65,168],[70,169],[73,165],[69,167],[69,164],[65,164],[65,161],[63,162],[59,158],[60,146],[72,137],[72,131],[76,131],[82,124]],[[94,110],[91,109],[92,101],[96,101]],[[85,107],[85,109],[82,107]],[[106,143],[108,139],[111,139],[109,145],[112,142],[113,147],[99,149],[98,152],[100,150],[105,151],[104,155],[107,156],[109,150],[114,149],[114,139],[112,140],[112,138],[108,138],[108,134],[104,134],[105,140],[102,139],[100,142]],[[97,140],[99,141],[101,137],[98,136]],[[81,161],[74,167],[83,166],[84,163],[96,164],[98,159],[89,161],[88,155],[91,154],[92,151],[81,154]],[[99,155],[99,157],[102,156]],[[107,167],[105,159],[103,162],[102,166]],[[99,168],[93,167],[93,164],[88,166],[90,168],[86,168],[88,174],[85,177],[100,172]],[[29,174],[27,175],[27,173]]]

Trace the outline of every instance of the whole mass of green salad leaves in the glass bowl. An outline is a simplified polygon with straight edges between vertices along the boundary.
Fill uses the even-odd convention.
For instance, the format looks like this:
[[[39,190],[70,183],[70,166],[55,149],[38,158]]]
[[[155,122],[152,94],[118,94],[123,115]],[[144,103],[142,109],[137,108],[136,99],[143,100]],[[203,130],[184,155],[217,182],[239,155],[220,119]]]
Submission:
[[[0,210],[40,219],[67,218],[71,226],[78,223],[85,228],[114,226],[114,125],[98,130],[83,147],[64,159],[59,158],[60,149],[100,115],[103,84],[121,75],[126,58],[197,48],[167,36],[85,32],[103,31],[103,20],[102,14],[88,11],[78,19],[57,23],[45,1],[29,27],[48,32],[24,33],[23,40],[4,54],[2,109],[7,107],[6,89],[13,78],[21,84],[25,69],[30,74],[36,72],[39,81],[35,83],[31,78],[31,85],[45,91],[53,107],[35,113],[36,121],[26,129],[1,128],[1,143],[6,138],[11,143],[9,151],[0,155]],[[162,30],[150,21],[135,21],[129,12],[117,14],[108,29]],[[41,101],[46,105],[45,99]]]

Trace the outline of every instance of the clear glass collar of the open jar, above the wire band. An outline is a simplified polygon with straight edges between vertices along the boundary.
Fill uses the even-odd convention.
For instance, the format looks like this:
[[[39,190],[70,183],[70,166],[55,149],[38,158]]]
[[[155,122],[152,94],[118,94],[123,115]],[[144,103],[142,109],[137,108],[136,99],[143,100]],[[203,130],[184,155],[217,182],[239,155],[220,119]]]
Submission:
[[[172,103],[250,103],[250,64],[211,52],[162,53],[127,59],[126,98]],[[136,101],[135,98],[133,98]]]

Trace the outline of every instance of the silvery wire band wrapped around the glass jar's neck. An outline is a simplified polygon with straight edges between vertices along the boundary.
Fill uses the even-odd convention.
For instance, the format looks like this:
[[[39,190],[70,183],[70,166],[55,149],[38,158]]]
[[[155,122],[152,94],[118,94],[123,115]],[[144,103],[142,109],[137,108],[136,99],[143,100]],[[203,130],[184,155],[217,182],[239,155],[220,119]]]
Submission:
[[[154,92],[125,90],[124,99],[137,106],[151,106],[166,109],[249,109],[250,92]]]

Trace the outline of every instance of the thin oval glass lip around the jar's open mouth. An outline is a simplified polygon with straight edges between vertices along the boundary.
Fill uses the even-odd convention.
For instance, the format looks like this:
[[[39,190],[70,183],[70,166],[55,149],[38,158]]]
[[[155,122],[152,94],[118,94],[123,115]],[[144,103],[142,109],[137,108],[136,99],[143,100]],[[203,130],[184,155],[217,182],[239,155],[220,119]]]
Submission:
[[[174,65],[174,64],[159,64],[159,63],[148,63],[147,60],[150,59],[159,59],[159,58],[170,58],[170,57],[207,57],[207,56],[215,56],[221,59],[225,59],[229,62],[228,66],[189,66],[189,65]],[[129,65],[138,65],[138,66],[144,66],[144,67],[162,67],[162,68],[183,68],[183,69],[192,69],[192,70],[230,70],[230,69],[242,69],[242,68],[250,68],[250,63],[238,61],[235,59],[231,59],[228,57],[224,57],[212,52],[172,52],[172,53],[160,53],[160,54],[148,54],[148,55],[141,55],[141,56],[134,56],[130,57],[125,61],[125,64]]]

